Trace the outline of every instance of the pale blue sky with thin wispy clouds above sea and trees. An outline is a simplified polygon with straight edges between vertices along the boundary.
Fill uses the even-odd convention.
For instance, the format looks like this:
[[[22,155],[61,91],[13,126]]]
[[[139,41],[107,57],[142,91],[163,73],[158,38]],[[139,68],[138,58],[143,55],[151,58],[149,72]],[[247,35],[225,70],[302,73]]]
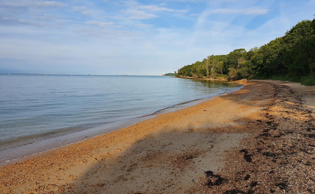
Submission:
[[[0,72],[170,73],[314,14],[315,0],[0,0]]]

